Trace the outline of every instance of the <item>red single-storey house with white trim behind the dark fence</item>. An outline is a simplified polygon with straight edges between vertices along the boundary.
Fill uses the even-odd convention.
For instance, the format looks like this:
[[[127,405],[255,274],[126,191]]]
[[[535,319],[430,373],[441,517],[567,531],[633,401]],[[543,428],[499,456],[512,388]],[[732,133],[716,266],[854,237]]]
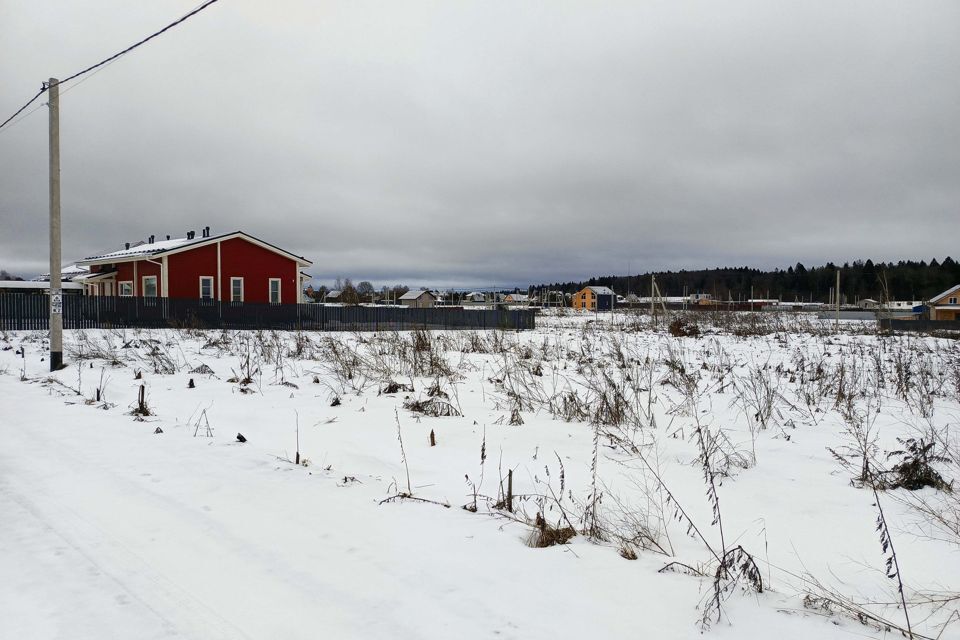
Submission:
[[[91,295],[293,304],[309,279],[300,269],[312,263],[243,231],[211,236],[206,227],[199,238],[150,236],[77,264],[90,267],[82,282]]]

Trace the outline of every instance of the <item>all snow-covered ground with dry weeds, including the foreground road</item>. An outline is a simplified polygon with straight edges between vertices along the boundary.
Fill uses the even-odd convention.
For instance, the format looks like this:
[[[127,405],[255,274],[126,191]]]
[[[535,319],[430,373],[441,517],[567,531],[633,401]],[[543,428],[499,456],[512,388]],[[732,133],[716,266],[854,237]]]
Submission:
[[[960,637],[960,342],[756,317],[0,334],[0,638]]]

